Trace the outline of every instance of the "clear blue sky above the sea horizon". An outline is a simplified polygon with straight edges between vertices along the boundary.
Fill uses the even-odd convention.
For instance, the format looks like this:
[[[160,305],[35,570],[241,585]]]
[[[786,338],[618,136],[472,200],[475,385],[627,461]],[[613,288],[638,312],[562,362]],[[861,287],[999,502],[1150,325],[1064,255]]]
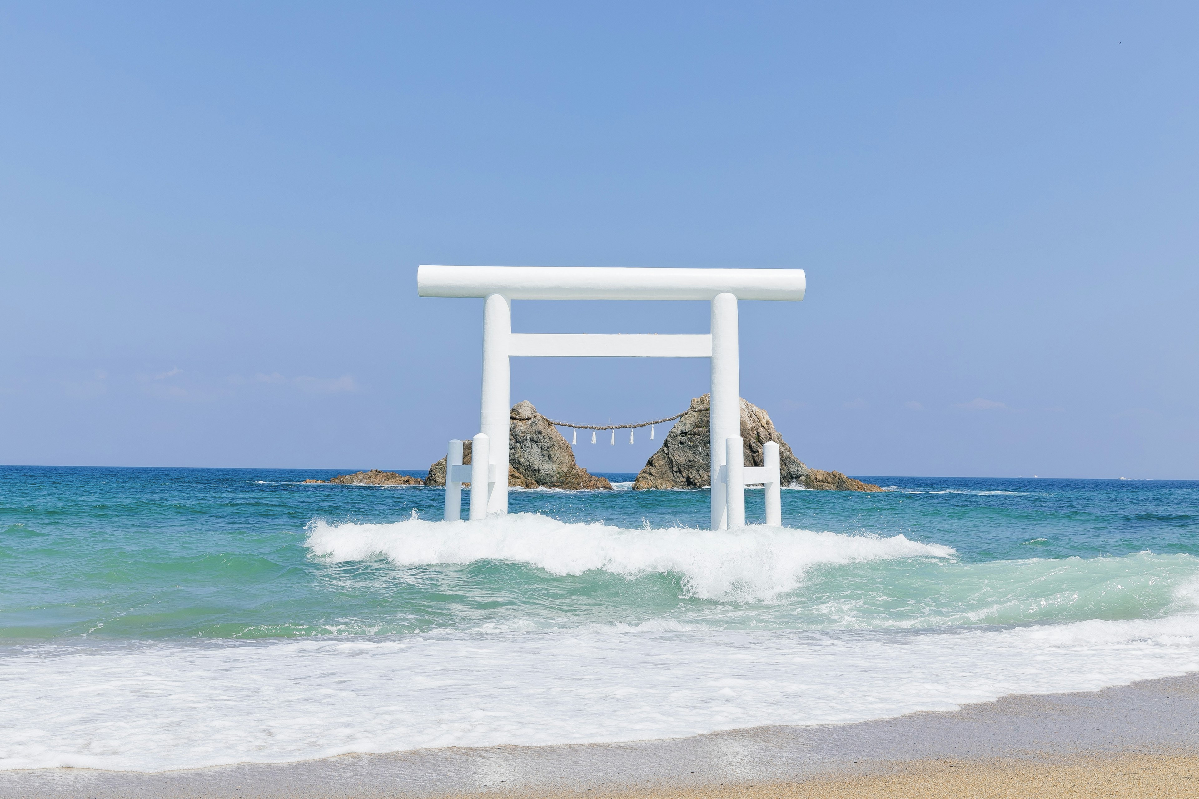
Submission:
[[[1193,4],[0,5],[0,462],[422,468],[477,431],[482,303],[418,264],[800,267],[742,303],[741,380],[806,462],[1199,478],[1197,37]],[[516,359],[512,399],[706,386]]]

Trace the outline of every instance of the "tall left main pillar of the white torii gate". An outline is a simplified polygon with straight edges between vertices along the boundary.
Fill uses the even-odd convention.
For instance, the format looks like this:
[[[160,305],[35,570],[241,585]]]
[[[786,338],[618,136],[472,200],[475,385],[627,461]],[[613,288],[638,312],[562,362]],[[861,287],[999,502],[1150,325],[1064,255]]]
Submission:
[[[483,483],[487,513],[508,512],[508,430],[511,402],[511,371],[508,369],[508,339],[512,335],[512,304],[500,293],[483,301],[483,401],[478,429],[492,443],[490,462],[504,479]],[[471,454],[470,462],[477,464]],[[475,507],[475,484],[471,483],[470,507]],[[471,519],[475,517],[471,512]]]

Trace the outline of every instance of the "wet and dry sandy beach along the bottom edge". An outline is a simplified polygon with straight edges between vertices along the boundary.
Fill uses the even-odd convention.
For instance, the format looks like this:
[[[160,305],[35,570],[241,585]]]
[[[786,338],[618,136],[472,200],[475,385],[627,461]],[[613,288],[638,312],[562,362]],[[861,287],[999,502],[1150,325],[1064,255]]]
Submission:
[[[1001,785],[1016,793],[993,793]],[[1144,795],[1199,792],[1199,672],[1090,692],[1012,695],[958,710],[856,724],[753,727],[621,744],[432,749],[159,773],[10,770],[0,771],[0,799],[683,798],[730,791],[747,797],[950,797],[971,795],[980,786],[988,795],[1056,795],[1058,789],[1070,795],[1140,785]]]

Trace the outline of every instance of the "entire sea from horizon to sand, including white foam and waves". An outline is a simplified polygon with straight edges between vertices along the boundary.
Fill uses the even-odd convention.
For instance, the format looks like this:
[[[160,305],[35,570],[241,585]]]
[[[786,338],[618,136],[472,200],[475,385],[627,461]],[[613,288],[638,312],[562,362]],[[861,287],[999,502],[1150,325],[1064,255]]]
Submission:
[[[354,470],[343,470],[354,471]],[[0,467],[0,768],[673,738],[1199,670],[1199,482],[442,491]],[[423,476],[423,472],[408,472]]]

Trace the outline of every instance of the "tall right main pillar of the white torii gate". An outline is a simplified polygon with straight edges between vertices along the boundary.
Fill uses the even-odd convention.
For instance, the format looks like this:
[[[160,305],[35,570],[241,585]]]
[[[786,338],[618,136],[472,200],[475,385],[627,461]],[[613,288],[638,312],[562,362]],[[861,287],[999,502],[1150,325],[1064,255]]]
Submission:
[[[741,436],[741,373],[737,335],[737,298],[722,292],[712,298],[712,397],[709,408],[709,452],[711,455],[712,529],[724,529],[728,519],[728,486],[721,482],[725,438]],[[742,523],[745,514],[742,512]]]

